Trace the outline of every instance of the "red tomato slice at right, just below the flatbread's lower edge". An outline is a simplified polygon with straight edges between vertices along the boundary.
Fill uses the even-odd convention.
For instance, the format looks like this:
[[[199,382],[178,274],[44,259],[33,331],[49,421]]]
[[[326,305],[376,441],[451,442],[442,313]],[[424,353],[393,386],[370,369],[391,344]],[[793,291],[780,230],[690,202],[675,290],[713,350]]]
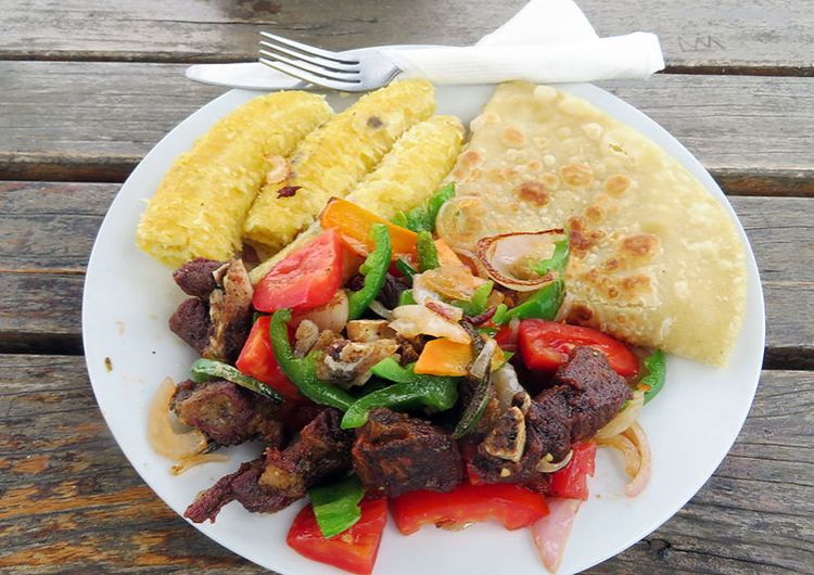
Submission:
[[[557,371],[574,347],[588,346],[608,358],[616,373],[635,375],[639,361],[622,342],[602,332],[544,319],[524,319],[518,334],[520,354],[530,369]]]

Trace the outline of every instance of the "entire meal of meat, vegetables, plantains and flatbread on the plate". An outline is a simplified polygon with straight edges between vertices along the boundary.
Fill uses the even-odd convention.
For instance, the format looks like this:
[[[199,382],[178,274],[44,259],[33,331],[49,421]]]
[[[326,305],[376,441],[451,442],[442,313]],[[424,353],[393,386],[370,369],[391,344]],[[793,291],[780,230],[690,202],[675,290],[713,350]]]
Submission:
[[[169,327],[201,358],[150,440],[176,473],[258,445],[191,521],[307,500],[288,545],[366,574],[387,513],[405,535],[495,520],[556,571],[597,447],[645,489],[664,354],[726,365],[743,246],[675,159],[550,87],[498,87],[466,145],[434,106],[418,80],[335,115],[259,97],[162,181],[138,244],[176,268]]]

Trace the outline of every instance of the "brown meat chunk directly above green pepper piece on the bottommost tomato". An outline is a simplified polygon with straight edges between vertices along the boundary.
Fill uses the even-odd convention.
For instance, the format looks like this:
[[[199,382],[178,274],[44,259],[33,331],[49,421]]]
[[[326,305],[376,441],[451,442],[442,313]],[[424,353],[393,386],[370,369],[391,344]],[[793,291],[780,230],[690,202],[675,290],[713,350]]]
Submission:
[[[354,434],[340,427],[341,421],[340,410],[327,408],[285,449],[267,449],[260,488],[267,494],[298,499],[311,485],[348,471]]]

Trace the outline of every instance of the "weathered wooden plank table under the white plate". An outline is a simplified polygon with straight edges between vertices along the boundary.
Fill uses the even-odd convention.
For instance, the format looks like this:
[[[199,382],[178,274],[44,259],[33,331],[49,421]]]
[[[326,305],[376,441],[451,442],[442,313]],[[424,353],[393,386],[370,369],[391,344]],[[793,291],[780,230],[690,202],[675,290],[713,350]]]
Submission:
[[[255,574],[176,516],[97,408],[80,302],[119,184],[225,90],[258,31],[331,49],[471,43],[524,0],[0,0],[0,572]],[[766,299],[764,371],[717,472],[592,574],[814,573],[814,10],[789,0],[582,0],[602,36],[659,34],[667,68],[601,86],[675,135],[746,227]]]

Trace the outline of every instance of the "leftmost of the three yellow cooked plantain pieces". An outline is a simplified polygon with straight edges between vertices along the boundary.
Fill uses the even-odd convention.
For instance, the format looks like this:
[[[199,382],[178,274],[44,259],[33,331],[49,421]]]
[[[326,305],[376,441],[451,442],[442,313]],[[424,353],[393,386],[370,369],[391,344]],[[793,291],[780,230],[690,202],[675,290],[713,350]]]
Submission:
[[[325,97],[291,91],[257,97],[219,119],[164,176],[139,221],[138,246],[174,268],[232,257],[278,158],[332,115]]]

